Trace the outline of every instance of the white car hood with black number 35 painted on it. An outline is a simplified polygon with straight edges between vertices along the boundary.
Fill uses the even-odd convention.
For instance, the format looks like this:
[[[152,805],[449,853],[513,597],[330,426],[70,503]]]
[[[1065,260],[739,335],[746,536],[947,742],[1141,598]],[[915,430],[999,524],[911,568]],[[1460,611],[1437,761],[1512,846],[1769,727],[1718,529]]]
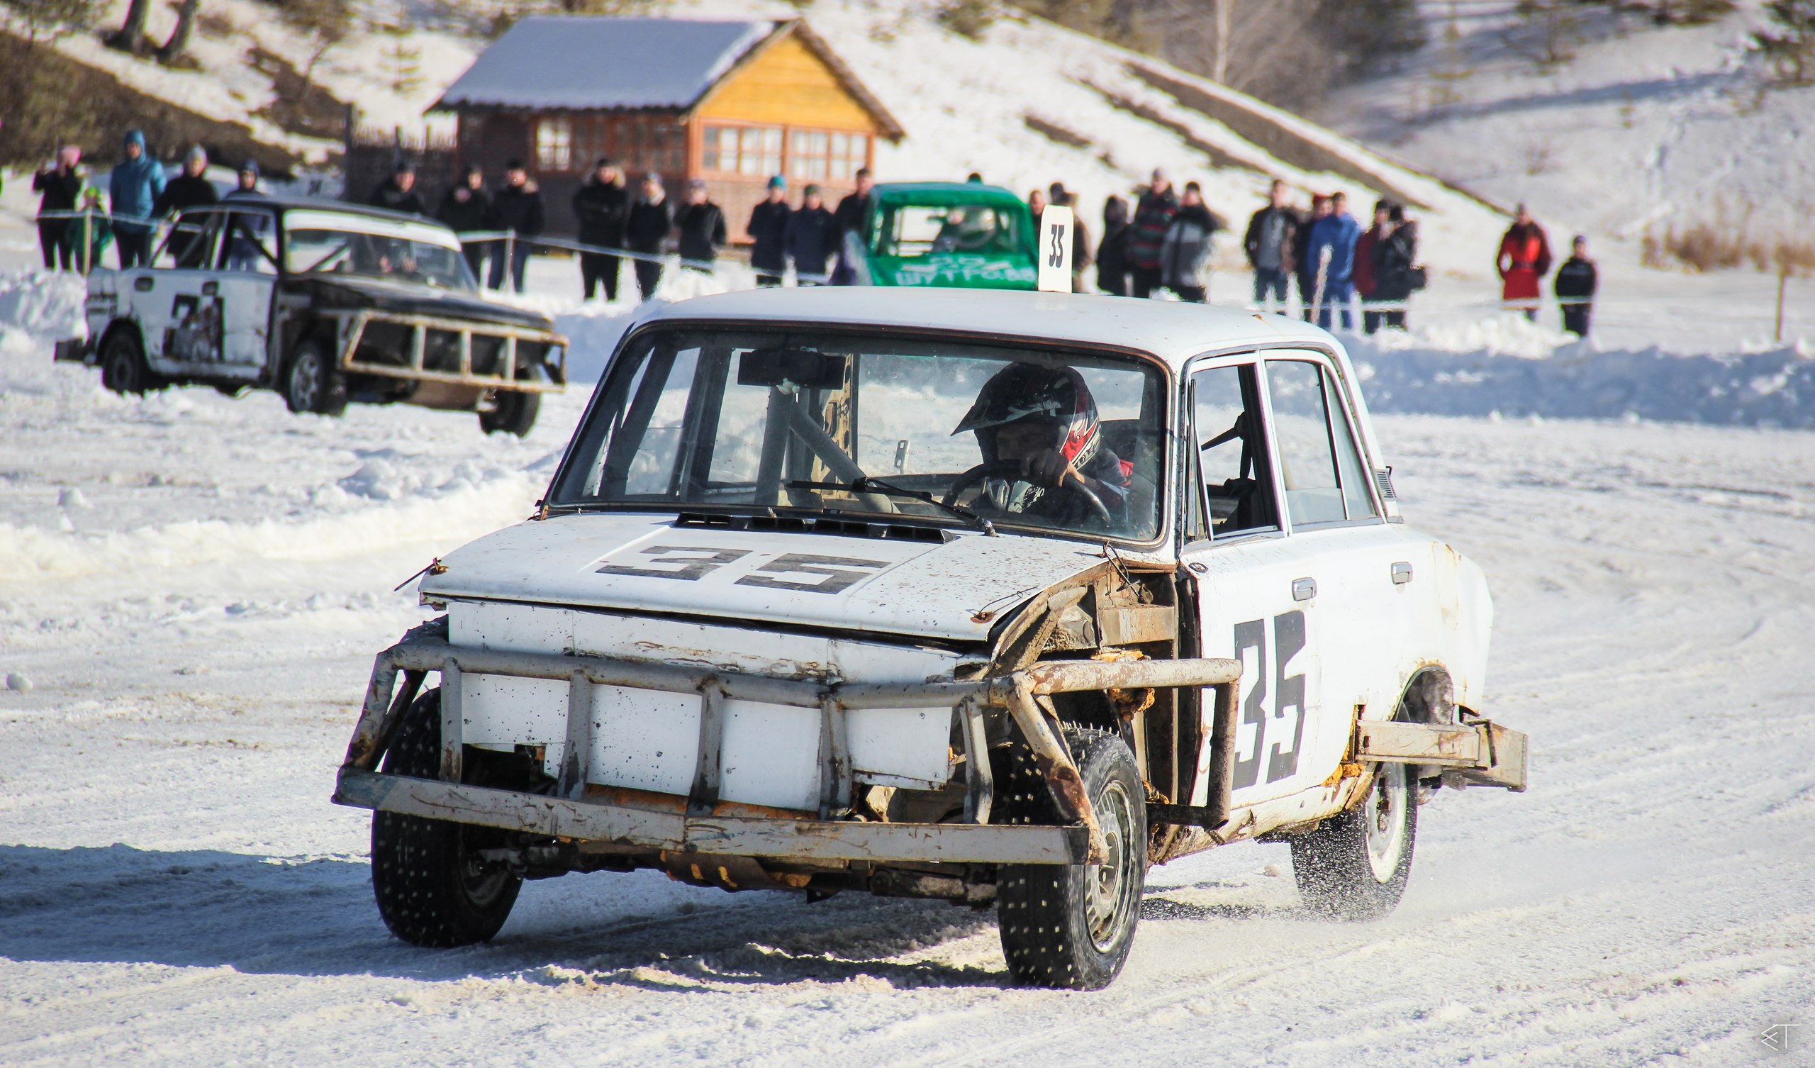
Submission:
[[[1098,547],[1056,538],[931,543],[588,512],[465,545],[421,592],[986,641],[1004,612],[1102,559]]]

